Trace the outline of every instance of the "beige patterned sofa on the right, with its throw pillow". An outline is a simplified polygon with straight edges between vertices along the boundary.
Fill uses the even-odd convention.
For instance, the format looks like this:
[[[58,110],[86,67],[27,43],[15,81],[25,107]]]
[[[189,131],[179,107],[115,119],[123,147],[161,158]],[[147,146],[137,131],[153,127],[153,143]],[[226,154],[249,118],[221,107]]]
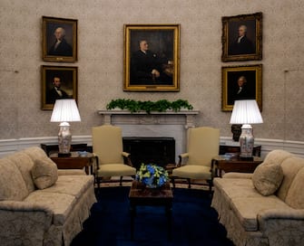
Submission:
[[[273,150],[253,174],[214,179],[211,206],[235,245],[303,245],[304,158]]]

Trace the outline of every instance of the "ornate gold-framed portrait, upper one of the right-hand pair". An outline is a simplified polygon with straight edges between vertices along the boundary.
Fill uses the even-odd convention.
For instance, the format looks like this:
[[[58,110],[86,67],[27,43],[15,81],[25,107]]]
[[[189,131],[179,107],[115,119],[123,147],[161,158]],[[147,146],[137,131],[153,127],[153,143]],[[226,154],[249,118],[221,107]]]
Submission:
[[[262,14],[221,17],[221,61],[262,59]]]

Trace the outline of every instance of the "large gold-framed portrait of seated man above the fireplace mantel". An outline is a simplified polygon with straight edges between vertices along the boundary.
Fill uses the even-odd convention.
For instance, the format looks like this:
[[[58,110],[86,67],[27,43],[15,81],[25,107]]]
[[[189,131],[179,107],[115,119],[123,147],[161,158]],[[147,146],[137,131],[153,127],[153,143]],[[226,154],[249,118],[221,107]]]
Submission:
[[[124,24],[123,90],[180,90],[180,24]]]

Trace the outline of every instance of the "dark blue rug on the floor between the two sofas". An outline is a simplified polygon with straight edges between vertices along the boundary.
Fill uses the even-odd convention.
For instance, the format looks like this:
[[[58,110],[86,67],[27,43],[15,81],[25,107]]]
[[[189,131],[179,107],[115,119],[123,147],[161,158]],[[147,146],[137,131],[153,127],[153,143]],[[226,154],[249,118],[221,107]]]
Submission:
[[[163,207],[138,207],[131,240],[130,187],[103,187],[92,215],[71,246],[196,246],[233,245],[217,221],[208,192],[175,188],[172,206],[172,241],[167,238]]]

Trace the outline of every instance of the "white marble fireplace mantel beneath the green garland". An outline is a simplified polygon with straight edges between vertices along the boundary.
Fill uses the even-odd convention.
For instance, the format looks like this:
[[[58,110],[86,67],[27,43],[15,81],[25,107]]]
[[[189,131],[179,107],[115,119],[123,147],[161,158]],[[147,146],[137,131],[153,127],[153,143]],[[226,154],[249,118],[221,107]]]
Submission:
[[[173,137],[175,156],[186,150],[187,129],[195,128],[198,110],[178,112],[135,112],[127,110],[98,110],[103,124],[112,124],[123,129],[123,137]]]

